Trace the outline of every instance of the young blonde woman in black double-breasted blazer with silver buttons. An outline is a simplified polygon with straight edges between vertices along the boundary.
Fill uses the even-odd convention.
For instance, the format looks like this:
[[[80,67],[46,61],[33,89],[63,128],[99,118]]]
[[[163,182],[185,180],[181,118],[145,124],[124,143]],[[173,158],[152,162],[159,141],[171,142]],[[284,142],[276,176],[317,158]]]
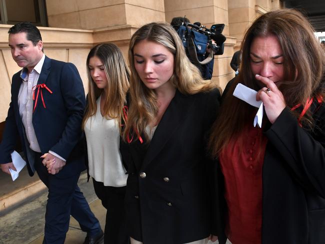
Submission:
[[[129,64],[130,101],[120,150],[128,165],[131,243],[207,243],[211,171],[205,142],[220,92],[202,79],[169,24],[139,28],[130,40]]]

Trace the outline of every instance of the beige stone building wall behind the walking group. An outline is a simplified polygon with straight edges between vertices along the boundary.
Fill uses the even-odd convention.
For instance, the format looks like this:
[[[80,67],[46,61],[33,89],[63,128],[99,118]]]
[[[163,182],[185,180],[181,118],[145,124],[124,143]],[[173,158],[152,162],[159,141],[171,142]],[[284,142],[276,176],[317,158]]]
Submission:
[[[87,90],[85,60],[97,43],[113,42],[127,57],[131,35],[145,23],[184,15],[207,27],[224,23],[224,53],[215,56],[212,77],[223,88],[234,76],[229,63],[245,29],[259,14],[279,7],[279,0],[46,0],[50,27],[39,29],[45,54],[74,63]],[[11,76],[20,69],[8,48],[8,27],[0,24],[0,122],[10,101]]]

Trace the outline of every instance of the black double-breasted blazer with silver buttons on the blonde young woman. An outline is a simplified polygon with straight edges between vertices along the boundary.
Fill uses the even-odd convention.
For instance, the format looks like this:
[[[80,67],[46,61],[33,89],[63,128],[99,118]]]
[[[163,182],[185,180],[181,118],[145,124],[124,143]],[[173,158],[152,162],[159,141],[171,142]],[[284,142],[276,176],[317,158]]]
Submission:
[[[212,231],[206,134],[219,98],[218,90],[194,95],[176,91],[149,143],[121,141],[129,174],[127,230],[134,239],[178,244],[203,239]]]

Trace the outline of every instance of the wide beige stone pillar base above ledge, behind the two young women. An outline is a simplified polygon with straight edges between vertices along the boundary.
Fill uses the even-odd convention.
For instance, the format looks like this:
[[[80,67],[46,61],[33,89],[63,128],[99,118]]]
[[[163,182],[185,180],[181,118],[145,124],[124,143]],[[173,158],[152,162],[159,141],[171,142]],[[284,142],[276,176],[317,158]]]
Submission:
[[[48,25],[97,29],[164,21],[163,0],[46,0]]]

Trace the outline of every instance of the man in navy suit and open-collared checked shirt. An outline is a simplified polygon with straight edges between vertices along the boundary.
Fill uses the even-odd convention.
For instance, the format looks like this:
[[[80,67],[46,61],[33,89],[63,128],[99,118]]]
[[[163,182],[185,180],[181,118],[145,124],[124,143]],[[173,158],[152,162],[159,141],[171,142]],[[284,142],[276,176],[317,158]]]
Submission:
[[[1,169],[15,170],[10,153],[20,138],[30,176],[36,171],[48,187],[43,243],[64,243],[70,214],[87,232],[84,243],[101,243],[99,222],[77,186],[85,168],[80,143],[85,97],[79,73],[72,63],[44,55],[33,24],[17,23],[8,33],[12,58],[22,69],[12,76]]]

